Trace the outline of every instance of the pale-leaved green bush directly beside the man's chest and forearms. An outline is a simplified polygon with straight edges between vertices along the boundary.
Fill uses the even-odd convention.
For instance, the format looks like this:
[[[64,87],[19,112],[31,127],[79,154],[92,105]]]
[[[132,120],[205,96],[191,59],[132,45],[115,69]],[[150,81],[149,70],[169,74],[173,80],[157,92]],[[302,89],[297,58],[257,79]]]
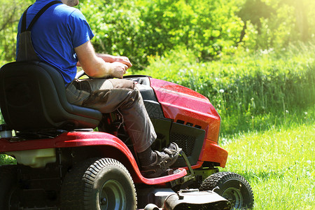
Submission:
[[[141,36],[139,7],[136,1],[81,1],[79,9],[87,18],[95,37],[92,43],[97,52],[129,57],[134,67],[144,64],[146,55],[139,48]],[[143,56],[144,55],[144,56]]]

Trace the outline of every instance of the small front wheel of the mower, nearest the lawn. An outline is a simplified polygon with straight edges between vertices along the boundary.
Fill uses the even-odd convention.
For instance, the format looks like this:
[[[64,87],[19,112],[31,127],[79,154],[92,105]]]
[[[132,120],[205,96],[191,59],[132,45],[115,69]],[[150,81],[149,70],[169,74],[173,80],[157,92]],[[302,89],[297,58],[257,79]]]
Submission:
[[[214,190],[214,188],[218,187]],[[253,190],[243,176],[232,172],[212,174],[202,182],[200,190],[214,190],[230,201],[234,209],[253,208]]]

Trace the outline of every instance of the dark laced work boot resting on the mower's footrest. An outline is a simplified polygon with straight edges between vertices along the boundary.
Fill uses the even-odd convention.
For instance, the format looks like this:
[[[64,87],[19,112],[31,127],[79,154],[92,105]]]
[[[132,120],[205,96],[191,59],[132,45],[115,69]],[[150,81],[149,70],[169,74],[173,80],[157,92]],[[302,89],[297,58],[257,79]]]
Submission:
[[[162,152],[154,151],[156,160],[151,165],[142,166],[142,174],[146,178],[156,178],[169,169],[170,166],[179,158],[181,148],[172,142],[167,148],[163,148]]]

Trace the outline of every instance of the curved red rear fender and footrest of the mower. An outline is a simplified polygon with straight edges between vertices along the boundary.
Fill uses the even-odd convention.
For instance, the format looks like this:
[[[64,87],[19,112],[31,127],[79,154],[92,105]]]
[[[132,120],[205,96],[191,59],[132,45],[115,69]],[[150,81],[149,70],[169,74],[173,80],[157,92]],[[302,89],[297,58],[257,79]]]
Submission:
[[[97,147],[95,147],[97,146]],[[117,137],[104,132],[65,132],[54,139],[31,139],[27,141],[10,141],[10,139],[0,139],[0,151],[3,153],[15,154],[16,151],[36,151],[49,148],[94,148],[94,152],[103,157],[111,157],[127,167],[132,174],[135,183],[145,183],[147,185],[157,185],[179,179],[187,174],[185,169],[180,169],[179,173],[170,176],[162,176],[156,179],[146,179],[141,175],[137,161],[130,149]],[[18,158],[18,157],[15,157]]]

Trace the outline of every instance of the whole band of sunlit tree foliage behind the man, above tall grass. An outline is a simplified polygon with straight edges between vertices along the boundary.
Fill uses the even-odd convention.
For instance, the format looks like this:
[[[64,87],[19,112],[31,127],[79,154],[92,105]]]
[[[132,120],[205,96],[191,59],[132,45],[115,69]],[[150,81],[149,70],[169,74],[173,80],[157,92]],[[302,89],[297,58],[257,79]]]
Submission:
[[[1,0],[1,60],[14,59],[18,20],[31,2]],[[94,48],[130,57],[133,69],[179,47],[207,61],[236,48],[281,49],[315,34],[312,0],[81,0],[78,8],[94,31]]]

